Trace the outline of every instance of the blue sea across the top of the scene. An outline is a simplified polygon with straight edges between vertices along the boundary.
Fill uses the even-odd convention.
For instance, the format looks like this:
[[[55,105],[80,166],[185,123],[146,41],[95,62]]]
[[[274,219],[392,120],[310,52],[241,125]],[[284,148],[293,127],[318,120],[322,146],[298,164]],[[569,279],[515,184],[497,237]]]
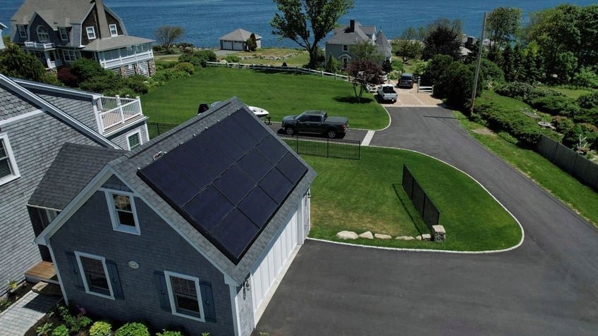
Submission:
[[[437,18],[460,19],[463,32],[479,37],[484,11],[498,6],[521,8],[524,21],[530,12],[558,4],[588,6],[595,0],[355,0],[355,8],[341,18],[341,24],[355,19],[362,25],[375,25],[391,39],[407,27],[420,27]],[[22,4],[20,0],[0,0],[0,23],[10,28],[11,17]],[[272,0],[104,0],[125,22],[129,35],[154,38],[160,25],[178,25],[185,29],[183,41],[195,46],[214,47],[219,37],[237,28],[262,35],[263,47],[298,47],[290,39],[279,41],[271,34],[270,20],[276,13]],[[8,32],[6,32],[8,34]],[[324,39],[325,41],[325,39]],[[324,43],[321,42],[321,46]]]

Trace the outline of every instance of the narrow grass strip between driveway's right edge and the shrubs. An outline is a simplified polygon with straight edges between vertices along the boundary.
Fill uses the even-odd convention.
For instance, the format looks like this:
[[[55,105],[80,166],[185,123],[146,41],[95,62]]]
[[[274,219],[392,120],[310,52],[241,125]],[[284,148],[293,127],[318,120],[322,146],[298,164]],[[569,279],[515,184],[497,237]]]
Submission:
[[[484,92],[485,94],[485,92]],[[546,158],[529,149],[522,149],[494,135],[480,135],[472,130],[483,128],[469,121],[463,114],[455,112],[462,125],[470,130],[477,141],[517,168],[538,185],[563,201],[571,209],[580,213],[588,221],[598,226],[598,193],[582,185],[561,168],[554,166]]]

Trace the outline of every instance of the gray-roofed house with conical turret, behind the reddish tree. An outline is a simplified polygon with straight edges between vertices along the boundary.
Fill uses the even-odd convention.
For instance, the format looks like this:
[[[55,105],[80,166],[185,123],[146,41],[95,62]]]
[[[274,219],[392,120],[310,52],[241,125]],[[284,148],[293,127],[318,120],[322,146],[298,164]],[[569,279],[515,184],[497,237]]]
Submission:
[[[334,57],[343,68],[346,68],[353,58],[349,47],[360,42],[374,44],[384,55],[384,59],[391,59],[391,44],[382,30],[376,33],[376,27],[373,25],[361,25],[355,20],[350,20],[349,25],[343,25],[332,31],[332,37],[326,41],[326,59]]]

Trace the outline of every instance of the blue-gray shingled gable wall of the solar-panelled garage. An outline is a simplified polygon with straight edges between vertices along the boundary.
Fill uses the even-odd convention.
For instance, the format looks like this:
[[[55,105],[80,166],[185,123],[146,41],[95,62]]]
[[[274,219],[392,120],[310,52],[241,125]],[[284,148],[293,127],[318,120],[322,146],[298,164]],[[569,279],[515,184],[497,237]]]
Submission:
[[[116,232],[109,220],[104,192],[95,192],[54,236],[51,247],[71,304],[85,306],[90,313],[121,321],[143,318],[156,328],[183,325],[187,335],[234,335],[231,299],[222,273],[178,235],[141,199],[135,198],[141,235]],[[85,228],[81,228],[81,226]],[[67,251],[81,251],[114,261],[123,288],[123,300],[86,294],[75,287],[66,260]],[[176,258],[173,258],[176,256]],[[136,261],[138,269],[128,267]],[[174,316],[160,309],[154,271],[169,270],[192,275],[212,285],[216,322],[199,322]]]

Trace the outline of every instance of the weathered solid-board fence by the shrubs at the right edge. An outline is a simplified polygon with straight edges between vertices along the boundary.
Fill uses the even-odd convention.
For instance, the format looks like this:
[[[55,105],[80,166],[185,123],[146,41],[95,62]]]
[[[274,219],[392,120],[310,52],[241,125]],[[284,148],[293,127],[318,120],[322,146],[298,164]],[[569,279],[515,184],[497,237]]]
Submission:
[[[537,151],[584,185],[598,190],[598,165],[596,163],[546,135],[542,135],[540,138]]]

